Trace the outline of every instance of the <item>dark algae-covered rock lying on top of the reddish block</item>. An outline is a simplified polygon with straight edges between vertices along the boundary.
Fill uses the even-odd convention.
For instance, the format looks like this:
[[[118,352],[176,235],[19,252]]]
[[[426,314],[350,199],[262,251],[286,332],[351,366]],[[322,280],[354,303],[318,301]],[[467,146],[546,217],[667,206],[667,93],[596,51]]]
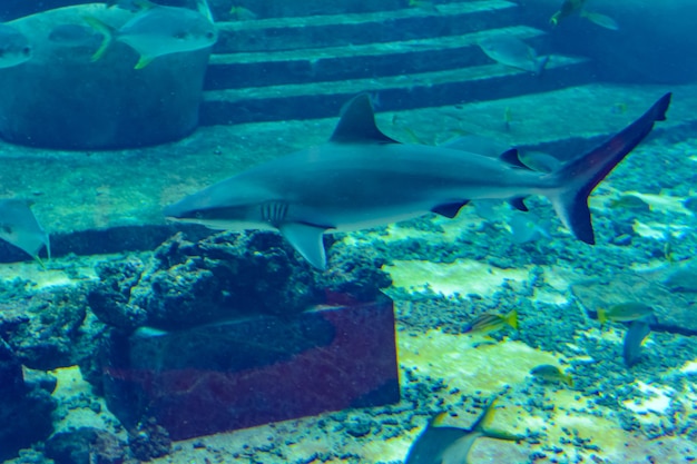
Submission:
[[[372,300],[391,284],[379,259],[344,251],[323,275],[277,234],[218,234],[198,243],[177,234],[147,261],[100,266],[101,283],[88,300],[101,320],[126,330],[176,329],[298,313],[327,303],[327,294],[328,303]]]

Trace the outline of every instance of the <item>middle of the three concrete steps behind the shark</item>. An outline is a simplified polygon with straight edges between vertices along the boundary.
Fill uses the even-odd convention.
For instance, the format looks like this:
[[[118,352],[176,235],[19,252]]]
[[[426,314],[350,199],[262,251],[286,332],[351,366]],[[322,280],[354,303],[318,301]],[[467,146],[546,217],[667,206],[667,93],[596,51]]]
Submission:
[[[498,34],[519,37],[539,53],[544,52],[544,32],[526,26],[513,26],[391,42],[223,53],[210,58],[205,88],[219,90],[379,78],[479,66],[491,60],[480,50],[477,41]]]

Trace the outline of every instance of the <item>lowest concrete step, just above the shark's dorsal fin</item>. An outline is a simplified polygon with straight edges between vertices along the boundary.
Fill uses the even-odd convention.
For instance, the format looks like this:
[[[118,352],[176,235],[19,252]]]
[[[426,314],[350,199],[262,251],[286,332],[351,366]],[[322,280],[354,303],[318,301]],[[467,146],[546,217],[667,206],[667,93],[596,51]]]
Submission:
[[[552,56],[541,76],[492,63],[380,79],[212,90],[204,95],[200,122],[212,126],[326,118],[364,91],[376,97],[381,111],[495,100],[588,82],[592,77],[588,65],[582,58]]]

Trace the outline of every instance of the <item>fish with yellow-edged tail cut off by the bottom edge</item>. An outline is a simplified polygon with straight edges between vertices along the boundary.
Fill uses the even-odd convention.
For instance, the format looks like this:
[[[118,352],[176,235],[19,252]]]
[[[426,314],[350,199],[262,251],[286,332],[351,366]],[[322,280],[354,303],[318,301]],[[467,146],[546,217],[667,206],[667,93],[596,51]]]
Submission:
[[[467,464],[477,438],[520,440],[520,436],[487,430],[493,421],[494,403],[487,406],[470,428],[442,426],[440,424],[446,414],[435,416],[409,448],[404,464]]]

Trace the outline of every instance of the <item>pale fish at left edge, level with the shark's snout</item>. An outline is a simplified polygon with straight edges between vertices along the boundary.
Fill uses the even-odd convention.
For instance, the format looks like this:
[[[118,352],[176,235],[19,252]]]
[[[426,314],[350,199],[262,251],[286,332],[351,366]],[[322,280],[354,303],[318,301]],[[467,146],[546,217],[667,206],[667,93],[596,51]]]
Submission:
[[[39,263],[39,251],[43,247],[51,258],[48,234],[31,211],[31,201],[13,198],[0,200],[0,238],[27,251]]]

